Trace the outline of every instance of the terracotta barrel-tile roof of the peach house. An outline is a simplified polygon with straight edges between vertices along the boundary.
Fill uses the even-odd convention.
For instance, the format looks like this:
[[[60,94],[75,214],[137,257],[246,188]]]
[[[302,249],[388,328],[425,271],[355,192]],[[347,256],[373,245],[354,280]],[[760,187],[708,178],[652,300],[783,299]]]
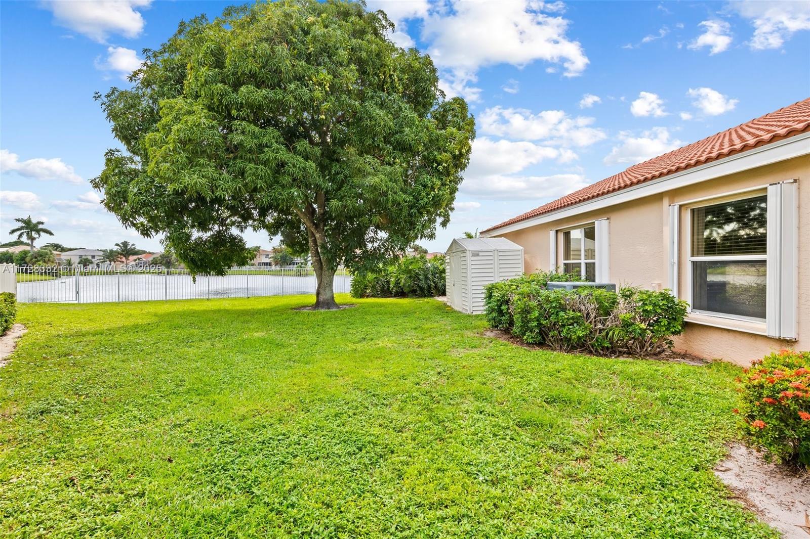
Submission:
[[[623,172],[597,181],[595,184],[567,194],[565,197],[557,198],[555,201],[548,202],[548,204],[527,211],[525,214],[518,215],[494,227],[489,227],[484,232],[520,223],[540,214],[547,214],[608,193],[615,193],[633,185],[697,167],[728,155],[739,154],[805,131],[810,131],[810,98],[693,142],[689,146],[659,155],[643,163],[634,164]]]

